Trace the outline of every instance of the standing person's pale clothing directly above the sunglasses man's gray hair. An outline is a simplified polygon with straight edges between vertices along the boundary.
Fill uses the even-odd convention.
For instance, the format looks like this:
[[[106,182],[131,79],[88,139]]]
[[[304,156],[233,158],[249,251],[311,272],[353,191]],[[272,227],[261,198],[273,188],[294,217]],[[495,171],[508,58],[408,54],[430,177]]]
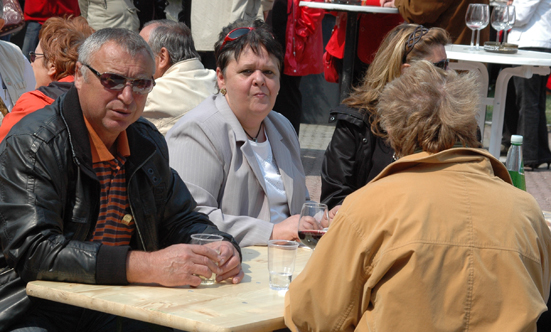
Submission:
[[[82,16],[94,30],[123,28],[140,31],[138,9],[130,0],[78,0]]]

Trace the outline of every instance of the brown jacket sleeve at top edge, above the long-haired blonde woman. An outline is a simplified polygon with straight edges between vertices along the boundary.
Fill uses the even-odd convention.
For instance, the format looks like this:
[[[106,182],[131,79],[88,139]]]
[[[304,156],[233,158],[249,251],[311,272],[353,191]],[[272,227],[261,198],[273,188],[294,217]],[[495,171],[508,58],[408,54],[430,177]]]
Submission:
[[[395,0],[394,4],[407,22],[430,24],[436,22],[454,1],[457,0]]]

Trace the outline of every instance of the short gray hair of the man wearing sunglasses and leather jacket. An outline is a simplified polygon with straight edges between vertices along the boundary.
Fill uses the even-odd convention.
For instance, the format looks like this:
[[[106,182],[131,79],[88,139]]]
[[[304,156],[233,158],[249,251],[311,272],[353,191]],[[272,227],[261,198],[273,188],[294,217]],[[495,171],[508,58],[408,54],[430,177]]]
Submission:
[[[151,58],[153,72],[155,72],[155,56],[153,55],[153,51],[151,51],[149,45],[137,32],[128,29],[106,28],[94,32],[79,47],[78,61],[82,64],[90,64],[92,57],[103,45],[109,42],[117,44],[132,57],[145,51]],[[84,66],[81,67],[80,72],[86,79],[88,71]]]

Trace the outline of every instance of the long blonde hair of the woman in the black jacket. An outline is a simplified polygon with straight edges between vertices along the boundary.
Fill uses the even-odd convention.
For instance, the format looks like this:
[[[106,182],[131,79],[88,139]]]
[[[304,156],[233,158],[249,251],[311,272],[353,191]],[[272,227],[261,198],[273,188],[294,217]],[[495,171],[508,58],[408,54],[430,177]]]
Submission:
[[[379,46],[360,85],[343,101],[345,105],[358,108],[364,116],[369,117],[371,130],[376,135],[385,136],[379,126],[377,114],[379,96],[388,82],[400,76],[406,54],[406,41],[418,27],[418,24],[403,23],[392,29]],[[446,30],[430,28],[407,54],[405,63],[411,64],[425,59],[432,54],[435,46],[445,46],[448,43],[450,35]]]

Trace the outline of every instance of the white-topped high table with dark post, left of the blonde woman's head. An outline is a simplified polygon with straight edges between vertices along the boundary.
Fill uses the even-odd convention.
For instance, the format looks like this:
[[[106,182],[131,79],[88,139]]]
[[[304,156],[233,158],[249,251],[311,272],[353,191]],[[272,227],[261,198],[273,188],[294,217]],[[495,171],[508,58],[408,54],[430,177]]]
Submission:
[[[350,92],[350,87],[352,85],[352,76],[354,75],[354,60],[356,59],[356,45],[358,44],[358,14],[398,14],[398,9],[390,7],[343,5],[330,2],[309,1],[301,1],[299,6],[325,9],[326,11],[346,12],[346,40],[344,44],[342,70],[339,74],[339,100],[343,100],[348,97],[348,93]]]

